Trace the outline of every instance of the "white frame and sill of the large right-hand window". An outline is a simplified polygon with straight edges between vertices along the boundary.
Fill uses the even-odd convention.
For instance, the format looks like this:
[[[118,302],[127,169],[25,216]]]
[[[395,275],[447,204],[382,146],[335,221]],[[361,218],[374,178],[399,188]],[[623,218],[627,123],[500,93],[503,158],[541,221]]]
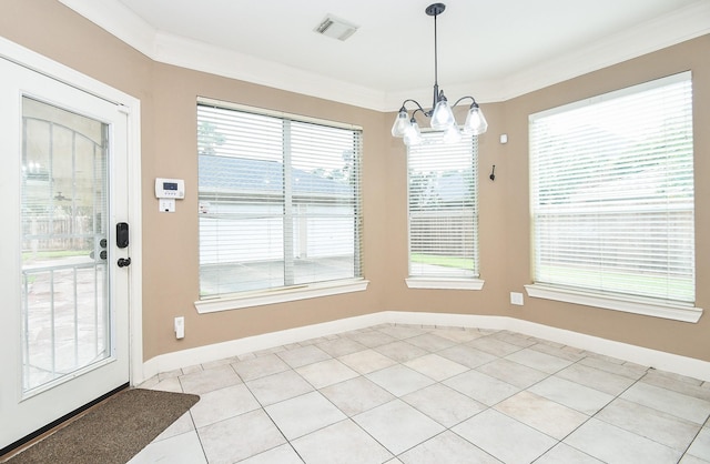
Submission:
[[[621,89],[619,91],[610,92],[592,99],[570,103],[568,105],[562,105],[559,108],[531,114],[529,118],[530,124],[532,125],[532,122],[536,119],[545,118],[546,115],[549,115],[549,114],[559,114],[574,109],[592,105],[600,101],[608,101],[608,100],[620,98],[620,97],[632,95],[649,89],[655,89],[655,88],[668,85],[674,82],[688,81],[688,80],[691,80],[690,71],[670,75],[656,81],[646,82],[643,84],[633,85],[627,89]],[[532,130],[530,130],[530,132],[531,132],[530,133],[530,150],[531,150],[530,155],[532,157],[534,154],[532,153],[532,150],[534,150]],[[535,192],[532,190],[535,188],[534,185],[535,179],[532,179],[535,173],[534,173],[534,165],[532,165],[532,158],[531,158],[530,209],[531,209],[532,220],[535,220],[535,204],[534,204]],[[531,228],[531,233],[532,235],[535,235],[534,225]],[[601,307],[601,309],[615,310],[615,311],[622,311],[622,312],[628,312],[633,314],[650,315],[656,317],[670,319],[670,320],[691,322],[691,323],[698,322],[698,320],[702,315],[703,310],[700,307],[696,307],[694,303],[689,303],[689,302],[668,301],[668,300],[661,300],[658,297],[618,294],[618,293],[610,293],[610,292],[604,292],[604,291],[592,291],[592,290],[585,290],[585,289],[578,289],[578,288],[569,288],[565,285],[556,285],[554,283],[535,282],[535,279],[536,279],[535,262],[537,256],[535,236],[532,236],[532,240],[531,240],[531,248],[532,248],[531,259],[532,259],[532,270],[534,270],[532,271],[534,283],[529,285],[525,285],[525,289],[528,295],[531,297],[561,301],[567,303]]]

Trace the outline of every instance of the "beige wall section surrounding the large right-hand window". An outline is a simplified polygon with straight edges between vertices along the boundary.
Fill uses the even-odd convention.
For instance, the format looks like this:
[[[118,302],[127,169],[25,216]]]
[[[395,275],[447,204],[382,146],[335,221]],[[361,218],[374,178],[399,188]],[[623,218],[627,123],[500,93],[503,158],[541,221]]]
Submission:
[[[694,186],[696,186],[696,271],[697,305],[710,313],[710,36],[623,62],[564,83],[508,101],[505,108],[505,131],[510,143],[500,158],[509,171],[506,204],[508,223],[508,285],[521,289],[530,282],[528,228],[528,163],[527,117],[530,113],[557,107],[595,94],[617,90],[636,83],[692,71],[694,121]],[[526,300],[523,309],[508,313],[547,325],[585,332],[606,339],[640,346],[683,354],[710,361],[710,316],[698,324],[671,322],[657,317],[633,315],[616,311],[556,303],[546,300]]]

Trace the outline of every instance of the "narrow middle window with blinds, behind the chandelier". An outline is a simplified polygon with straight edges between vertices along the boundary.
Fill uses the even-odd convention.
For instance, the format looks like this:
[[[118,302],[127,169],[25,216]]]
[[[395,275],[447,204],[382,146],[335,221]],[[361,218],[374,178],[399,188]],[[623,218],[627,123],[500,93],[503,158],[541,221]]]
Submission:
[[[433,280],[432,286],[449,288],[442,281],[478,278],[477,138],[444,143],[440,133],[422,135],[424,143],[410,145],[407,153],[407,283]]]

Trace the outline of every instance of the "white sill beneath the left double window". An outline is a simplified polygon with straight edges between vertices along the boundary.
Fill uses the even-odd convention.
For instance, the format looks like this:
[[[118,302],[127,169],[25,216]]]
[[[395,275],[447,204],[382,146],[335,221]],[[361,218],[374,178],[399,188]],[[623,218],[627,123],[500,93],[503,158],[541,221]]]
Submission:
[[[233,293],[210,300],[195,301],[194,304],[197,313],[206,314],[220,311],[241,310],[243,307],[262,306],[265,304],[287,303],[297,300],[339,295],[342,293],[362,292],[367,290],[368,283],[369,281],[364,279],[356,279],[296,285],[284,289]]]

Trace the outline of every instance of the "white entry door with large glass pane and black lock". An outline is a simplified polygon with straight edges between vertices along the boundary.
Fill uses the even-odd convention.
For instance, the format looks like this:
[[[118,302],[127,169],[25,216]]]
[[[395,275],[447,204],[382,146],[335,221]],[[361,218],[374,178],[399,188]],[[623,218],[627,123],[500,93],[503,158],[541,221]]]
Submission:
[[[0,77],[1,450],[129,382],[131,268],[126,114],[2,58]]]

